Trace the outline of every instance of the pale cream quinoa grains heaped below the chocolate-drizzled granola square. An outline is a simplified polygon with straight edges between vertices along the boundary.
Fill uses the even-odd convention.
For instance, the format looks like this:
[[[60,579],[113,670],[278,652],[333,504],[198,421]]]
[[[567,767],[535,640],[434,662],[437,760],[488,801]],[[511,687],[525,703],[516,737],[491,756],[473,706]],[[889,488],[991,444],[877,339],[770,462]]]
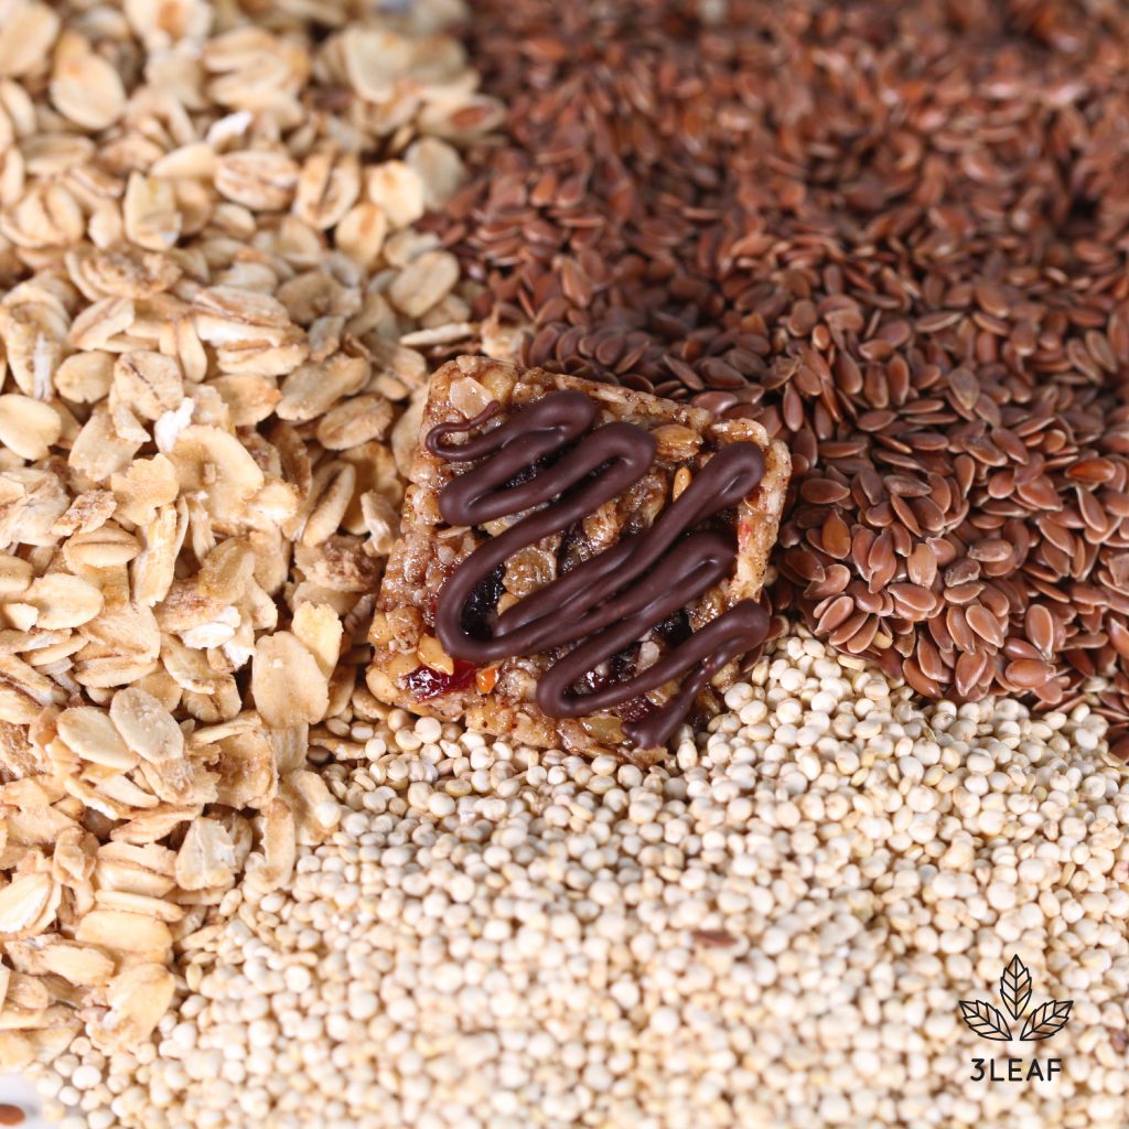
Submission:
[[[811,638],[727,701],[646,773],[393,711],[326,768],[348,814],[290,889],[186,946],[156,1047],[79,1040],[47,1088],[90,1129],[1120,1129],[1105,721],[922,709]],[[1050,1084],[968,1080],[1004,1044],[959,1000],[1012,954],[1075,1000]]]

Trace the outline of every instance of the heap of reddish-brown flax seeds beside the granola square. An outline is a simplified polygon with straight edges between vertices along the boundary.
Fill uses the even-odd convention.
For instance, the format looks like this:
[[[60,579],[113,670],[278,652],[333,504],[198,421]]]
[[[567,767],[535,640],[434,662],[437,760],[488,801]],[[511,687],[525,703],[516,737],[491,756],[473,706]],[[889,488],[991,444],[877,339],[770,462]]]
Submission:
[[[1129,14],[485,0],[466,40],[509,112],[437,222],[478,312],[785,436],[773,596],[821,638],[1124,733]]]

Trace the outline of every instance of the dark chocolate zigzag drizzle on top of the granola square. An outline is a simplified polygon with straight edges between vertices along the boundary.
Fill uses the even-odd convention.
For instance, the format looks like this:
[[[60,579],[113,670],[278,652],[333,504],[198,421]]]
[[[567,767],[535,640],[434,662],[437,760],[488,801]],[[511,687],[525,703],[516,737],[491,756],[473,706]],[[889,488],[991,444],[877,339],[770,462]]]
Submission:
[[[768,615],[754,601],[735,604],[625,681],[583,694],[574,686],[729,575],[736,559],[733,539],[712,530],[690,531],[747,497],[764,473],[764,456],[751,443],[723,447],[649,530],[581,561],[500,615],[490,615],[472,634],[464,613],[482,581],[518,550],[569,528],[623,493],[647,473],[656,450],[655,439],[630,423],[593,430],[596,404],[579,392],[550,393],[475,438],[448,441],[489,422],[498,410],[491,403],[465,423],[440,423],[425,439],[428,450],[450,462],[489,456],[444,488],[439,511],[445,520],[480,525],[532,510],[475,549],[443,586],[439,640],[449,655],[478,664],[575,645],[537,684],[537,704],[553,718],[622,706],[686,675],[669,701],[623,725],[634,744],[660,745],[709,680],[764,639]],[[519,473],[549,456],[555,461],[533,478]]]

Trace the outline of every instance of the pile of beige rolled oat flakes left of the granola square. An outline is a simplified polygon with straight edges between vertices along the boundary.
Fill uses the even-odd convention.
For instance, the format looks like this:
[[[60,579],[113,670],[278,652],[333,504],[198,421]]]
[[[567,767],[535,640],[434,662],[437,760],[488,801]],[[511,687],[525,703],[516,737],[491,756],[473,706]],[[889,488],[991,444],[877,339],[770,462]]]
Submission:
[[[413,227],[499,117],[460,11],[0,10],[7,1068],[137,1045],[174,946],[336,824],[307,745],[370,708],[412,405],[471,331]]]

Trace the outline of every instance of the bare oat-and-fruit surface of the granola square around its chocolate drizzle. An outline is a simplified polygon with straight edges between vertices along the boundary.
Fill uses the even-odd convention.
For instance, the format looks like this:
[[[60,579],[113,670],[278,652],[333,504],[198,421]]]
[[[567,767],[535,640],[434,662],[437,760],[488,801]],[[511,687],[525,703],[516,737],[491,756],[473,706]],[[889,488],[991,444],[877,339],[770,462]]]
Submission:
[[[509,559],[497,590],[482,593],[482,613],[506,606],[541,589],[571,564],[615,544],[621,536],[649,527],[684,489],[712,452],[733,443],[754,443],[764,453],[764,476],[755,492],[730,511],[737,545],[734,575],[688,605],[686,622],[656,630],[610,664],[614,669],[596,677],[620,680],[655,662],[680,631],[697,630],[741,599],[760,595],[769,552],[788,483],[788,453],[770,443],[760,425],[749,420],[718,420],[710,413],[629,388],[595,384],[543,369],[519,369],[481,357],[463,357],[445,365],[431,379],[420,437],[440,423],[464,422],[491,401],[508,418],[519,408],[557,390],[587,394],[599,406],[599,422],[632,423],[650,432],[657,455],[650,470],[623,495],[589,515],[579,527],[554,534]],[[493,426],[491,420],[487,426]],[[448,526],[439,513],[439,493],[469,464],[446,462],[420,443],[404,499],[401,536],[394,546],[380,587],[371,640],[376,648],[368,674],[369,689],[391,704],[444,719],[463,719],[473,729],[515,742],[561,745],[589,755],[614,751],[636,760],[654,759],[654,751],[632,750],[621,723],[634,719],[665,700],[675,684],[653,691],[647,699],[588,717],[554,720],[533,700],[539,679],[555,655],[504,659],[472,668],[446,655],[436,639],[439,592],[454,569],[491,535],[518,516],[488,522],[484,527]],[[473,603],[473,602],[472,602]],[[729,664],[714,680],[714,689],[698,695],[691,719],[702,720],[718,708],[717,689],[736,671]],[[592,689],[596,689],[594,684]]]

